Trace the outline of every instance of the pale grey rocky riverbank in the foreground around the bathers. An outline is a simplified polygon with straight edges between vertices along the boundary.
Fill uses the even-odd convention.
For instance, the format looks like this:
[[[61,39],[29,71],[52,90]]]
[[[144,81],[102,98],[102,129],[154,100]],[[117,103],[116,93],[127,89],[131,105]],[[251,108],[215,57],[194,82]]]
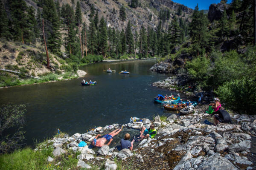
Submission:
[[[204,108],[204,107],[203,107]],[[140,129],[154,124],[157,136],[144,139],[133,151],[107,145],[99,150],[88,145],[97,134],[105,134],[118,127],[118,124],[97,127],[87,133],[76,133],[73,136],[55,137],[42,143],[35,150],[52,147],[49,163],[61,167],[60,157],[72,150],[77,158],[77,167],[99,167],[99,169],[174,169],[174,170],[252,170],[256,168],[256,144],[252,140],[256,134],[256,116],[233,114],[235,124],[212,125],[212,117],[204,113],[203,108],[196,108],[195,113],[179,116],[171,115],[165,122],[159,116],[154,120],[143,119],[143,122],[128,123],[124,128]],[[206,108],[206,107],[205,107]],[[207,120],[208,123],[207,123]],[[210,124],[210,125],[209,125]],[[87,146],[78,147],[81,138],[87,140]],[[115,141],[115,137],[113,138]],[[116,142],[119,144],[119,141]]]

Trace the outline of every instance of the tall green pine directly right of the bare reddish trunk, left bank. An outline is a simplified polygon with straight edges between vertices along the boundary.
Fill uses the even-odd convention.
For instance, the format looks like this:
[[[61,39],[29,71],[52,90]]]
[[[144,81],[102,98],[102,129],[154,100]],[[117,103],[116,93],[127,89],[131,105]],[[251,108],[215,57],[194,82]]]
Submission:
[[[61,56],[60,20],[53,0],[44,0],[42,17],[45,20],[45,34],[49,51]]]

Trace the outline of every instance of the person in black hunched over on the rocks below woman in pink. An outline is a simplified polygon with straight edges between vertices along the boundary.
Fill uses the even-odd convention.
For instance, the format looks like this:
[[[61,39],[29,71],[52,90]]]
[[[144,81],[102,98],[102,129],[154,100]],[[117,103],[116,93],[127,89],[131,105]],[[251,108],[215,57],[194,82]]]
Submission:
[[[230,114],[222,107],[220,107],[218,111],[213,112],[211,116],[212,115],[214,115],[215,126],[217,126],[219,122],[232,124]]]

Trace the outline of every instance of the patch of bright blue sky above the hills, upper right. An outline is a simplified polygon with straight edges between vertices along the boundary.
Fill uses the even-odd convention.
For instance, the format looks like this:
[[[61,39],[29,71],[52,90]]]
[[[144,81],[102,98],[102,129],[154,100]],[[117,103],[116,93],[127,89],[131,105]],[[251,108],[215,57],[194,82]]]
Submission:
[[[220,3],[221,0],[172,0],[175,3],[183,4],[184,6],[187,6],[189,8],[194,9],[196,4],[198,3],[199,10],[202,9],[209,9],[209,6],[212,3]],[[227,0],[227,3],[231,3],[232,0]]]

